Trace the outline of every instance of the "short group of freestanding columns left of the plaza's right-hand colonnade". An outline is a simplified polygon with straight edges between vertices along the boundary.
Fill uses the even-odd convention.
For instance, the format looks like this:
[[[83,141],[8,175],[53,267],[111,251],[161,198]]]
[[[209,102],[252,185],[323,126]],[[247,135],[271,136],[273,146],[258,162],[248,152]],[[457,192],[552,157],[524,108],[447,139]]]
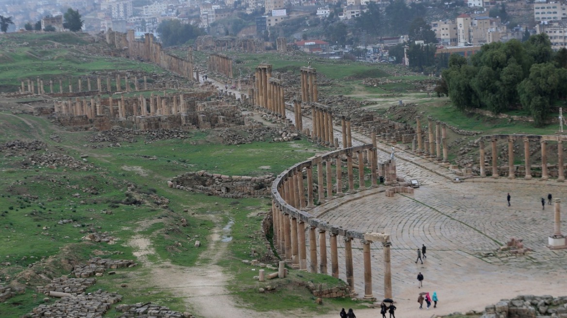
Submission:
[[[423,140],[420,116],[416,116],[416,126],[417,154],[443,164],[448,164],[447,124],[436,121],[435,126],[433,126],[433,118],[428,116],[428,139],[425,141]]]

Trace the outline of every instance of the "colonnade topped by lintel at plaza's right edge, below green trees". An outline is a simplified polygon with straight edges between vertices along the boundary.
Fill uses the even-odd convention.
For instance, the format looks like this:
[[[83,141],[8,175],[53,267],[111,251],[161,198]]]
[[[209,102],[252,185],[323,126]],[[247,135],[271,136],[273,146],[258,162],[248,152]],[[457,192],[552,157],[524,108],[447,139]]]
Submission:
[[[524,144],[524,171],[526,179],[532,178],[531,173],[531,161],[530,161],[530,141],[536,141],[540,143],[541,147],[541,179],[549,179],[548,171],[548,161],[547,161],[547,144],[549,141],[555,141],[557,143],[557,181],[565,181],[565,164],[563,155],[563,141],[567,140],[567,136],[537,136],[537,135],[493,135],[493,136],[483,136],[479,141],[479,152],[480,152],[480,176],[486,177],[486,167],[485,167],[485,140],[489,140],[492,144],[492,177],[498,178],[498,140],[505,139],[508,143],[508,178],[515,178],[514,166],[514,141],[522,140]]]

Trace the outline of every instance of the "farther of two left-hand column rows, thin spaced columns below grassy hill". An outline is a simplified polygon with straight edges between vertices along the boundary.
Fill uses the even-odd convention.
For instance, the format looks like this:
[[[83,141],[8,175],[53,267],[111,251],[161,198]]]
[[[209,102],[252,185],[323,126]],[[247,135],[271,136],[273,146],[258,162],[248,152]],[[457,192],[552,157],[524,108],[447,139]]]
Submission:
[[[122,87],[124,87],[126,92],[129,92],[132,90],[132,84],[130,83],[130,79],[132,79],[132,77],[129,78],[129,76],[127,74],[125,75],[121,75],[121,74],[116,74],[116,79],[115,79],[115,87],[113,87],[111,85],[111,76],[106,76],[106,87],[105,87],[105,91],[103,91],[103,79],[101,78],[101,76],[96,76],[96,91],[99,91],[99,93],[103,93],[103,92],[121,92],[122,91]],[[124,79],[124,85],[122,85],[122,78]],[[21,81],[21,87],[20,87],[20,91],[21,92],[29,92],[29,93],[37,93],[37,94],[45,94],[45,93],[57,93],[54,90],[54,83],[57,84],[57,81],[59,83],[59,92],[60,94],[64,93],[64,92],[68,92],[68,93],[77,93],[77,92],[91,92],[94,91],[94,83],[91,83],[91,77],[90,76],[86,76],[86,78],[83,77],[79,77],[77,80],[74,80],[73,78],[67,78],[66,80],[66,84],[68,85],[69,89],[66,90],[64,89],[65,85],[64,85],[64,80],[62,78],[58,78],[57,80],[53,80],[53,79],[49,79],[49,81],[47,80],[43,80],[40,79],[39,77],[37,78],[37,80],[31,80],[31,79],[26,79],[26,80],[22,80]],[[86,82],[86,83],[85,83]],[[138,76],[134,75],[133,76],[133,82],[134,82],[134,91],[139,91],[139,85],[138,85]],[[45,85],[49,84],[49,92],[46,92],[45,90]],[[85,86],[86,84],[86,86]],[[147,76],[143,75],[143,89],[147,89]]]

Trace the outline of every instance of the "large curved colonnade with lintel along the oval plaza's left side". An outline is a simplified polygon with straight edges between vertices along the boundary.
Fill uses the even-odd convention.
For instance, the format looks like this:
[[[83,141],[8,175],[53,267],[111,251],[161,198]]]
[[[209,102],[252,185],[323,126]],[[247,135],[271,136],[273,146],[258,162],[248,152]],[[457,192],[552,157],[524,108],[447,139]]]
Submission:
[[[375,142],[375,135],[373,141]],[[369,154],[370,159],[371,185],[376,186],[377,157],[376,148],[373,144],[329,152],[296,164],[284,171],[272,184],[273,242],[282,259],[285,259],[291,268],[309,270],[312,273],[329,274],[328,261],[330,260],[330,274],[338,278],[341,269],[338,263],[337,239],[342,237],[345,248],[346,282],[350,286],[351,293],[355,293],[354,267],[363,266],[364,298],[368,299],[374,298],[370,244],[380,242],[384,253],[384,296],[391,298],[390,236],[383,233],[360,233],[356,230],[343,229],[329,225],[306,212],[314,207],[315,194],[318,201],[325,200],[325,191],[327,198],[332,197],[333,188],[336,189],[336,195],[342,195],[342,157],[344,156],[346,157],[348,175],[348,193],[355,190],[354,167],[357,167],[359,171],[358,188],[365,188],[363,169],[365,166],[363,154],[365,153]],[[353,160],[358,160],[358,165],[353,164]],[[333,169],[333,163],[335,169]],[[314,167],[316,167],[316,182]],[[336,180],[335,186],[333,186],[333,177]],[[317,187],[316,191],[314,191],[314,183]],[[308,244],[306,231],[308,231],[309,236]],[[363,247],[363,264],[353,264],[352,242],[355,239],[359,240]],[[309,256],[307,256],[307,245],[309,246]],[[327,251],[330,252],[330,257],[327,257]]]

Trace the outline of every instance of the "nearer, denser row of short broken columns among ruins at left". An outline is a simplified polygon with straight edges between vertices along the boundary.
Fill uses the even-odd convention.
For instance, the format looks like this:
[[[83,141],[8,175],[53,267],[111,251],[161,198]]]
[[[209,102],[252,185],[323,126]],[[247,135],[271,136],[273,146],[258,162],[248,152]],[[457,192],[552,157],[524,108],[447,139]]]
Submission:
[[[149,102],[148,102],[149,100]],[[142,94],[139,97],[125,99],[124,95],[119,98],[112,95],[108,98],[75,98],[75,101],[58,101],[54,103],[57,115],[82,116],[92,119],[96,116],[108,114],[110,119],[126,118],[128,116],[156,116],[176,115],[187,111],[187,103],[183,94],[179,96],[154,96],[146,98]],[[149,107],[148,107],[149,106]]]

